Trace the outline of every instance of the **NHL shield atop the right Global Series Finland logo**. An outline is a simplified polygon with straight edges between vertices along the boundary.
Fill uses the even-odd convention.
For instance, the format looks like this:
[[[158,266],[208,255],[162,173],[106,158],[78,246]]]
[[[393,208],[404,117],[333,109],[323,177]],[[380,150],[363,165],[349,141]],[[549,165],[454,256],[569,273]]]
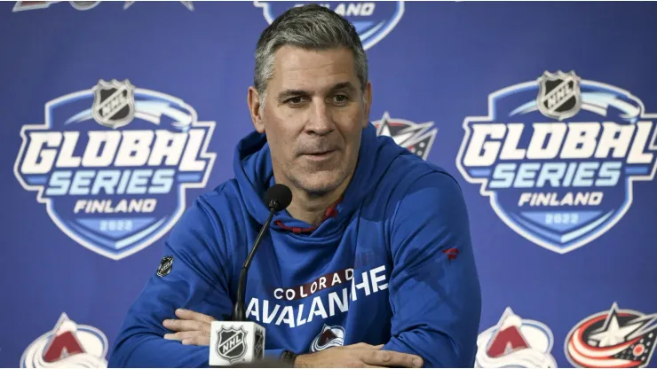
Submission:
[[[538,78],[538,110],[545,116],[563,121],[580,111],[580,78],[574,72],[545,72]]]

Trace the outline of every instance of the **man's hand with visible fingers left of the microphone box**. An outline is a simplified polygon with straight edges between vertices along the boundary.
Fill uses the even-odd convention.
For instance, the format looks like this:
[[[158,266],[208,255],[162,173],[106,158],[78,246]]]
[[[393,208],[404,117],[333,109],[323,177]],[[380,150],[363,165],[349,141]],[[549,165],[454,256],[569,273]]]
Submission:
[[[192,310],[178,309],[176,317],[162,322],[164,327],[175,334],[164,334],[167,340],[178,340],[184,345],[210,346],[210,325],[217,320]]]

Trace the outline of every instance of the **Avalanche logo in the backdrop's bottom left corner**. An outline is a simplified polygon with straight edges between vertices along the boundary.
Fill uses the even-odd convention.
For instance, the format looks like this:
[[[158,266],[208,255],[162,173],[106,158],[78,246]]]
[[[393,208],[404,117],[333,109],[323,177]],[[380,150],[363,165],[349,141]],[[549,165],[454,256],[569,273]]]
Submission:
[[[42,334],[20,357],[21,368],[106,368],[107,336],[94,326],[78,325],[61,313],[54,328]]]

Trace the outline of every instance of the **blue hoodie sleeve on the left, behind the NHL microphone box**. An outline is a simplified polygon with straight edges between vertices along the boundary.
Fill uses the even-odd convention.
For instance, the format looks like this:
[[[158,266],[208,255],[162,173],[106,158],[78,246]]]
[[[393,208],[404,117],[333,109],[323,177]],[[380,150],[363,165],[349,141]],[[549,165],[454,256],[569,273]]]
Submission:
[[[178,308],[227,319],[233,310],[230,268],[221,256],[220,224],[213,222],[202,199],[178,220],[165,242],[173,257],[169,274],[153,273],[133,302],[109,357],[109,367],[208,367],[208,346],[166,340],[162,322],[176,318]],[[266,352],[270,356],[273,352]],[[280,355],[280,354],[279,354]]]

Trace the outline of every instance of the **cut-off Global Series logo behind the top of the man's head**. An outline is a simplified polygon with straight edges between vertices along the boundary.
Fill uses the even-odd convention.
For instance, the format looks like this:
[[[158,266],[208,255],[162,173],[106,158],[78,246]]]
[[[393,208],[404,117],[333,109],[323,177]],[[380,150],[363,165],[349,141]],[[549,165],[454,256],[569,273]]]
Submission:
[[[293,6],[312,4],[311,1],[255,1],[258,8],[262,8],[265,20],[270,24],[283,12]],[[363,49],[368,50],[383,40],[400,22],[404,15],[404,2],[327,2],[319,3],[329,7],[340,14],[344,19],[352,22],[356,32],[360,35]]]

